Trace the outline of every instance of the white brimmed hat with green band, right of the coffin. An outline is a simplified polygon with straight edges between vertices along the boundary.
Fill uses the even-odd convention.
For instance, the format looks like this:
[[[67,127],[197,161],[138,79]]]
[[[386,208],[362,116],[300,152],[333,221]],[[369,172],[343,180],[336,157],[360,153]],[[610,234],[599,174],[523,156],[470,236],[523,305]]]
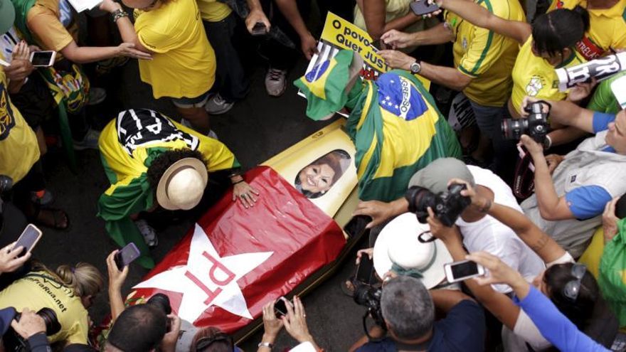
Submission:
[[[443,265],[452,262],[452,255],[441,240],[420,242],[418,237],[428,240],[432,235],[428,224],[418,221],[413,213],[404,213],[391,220],[378,235],[374,245],[374,269],[379,277],[391,270],[395,263],[405,270],[415,270],[423,275],[427,289],[445,279]],[[425,233],[425,235],[421,235]]]

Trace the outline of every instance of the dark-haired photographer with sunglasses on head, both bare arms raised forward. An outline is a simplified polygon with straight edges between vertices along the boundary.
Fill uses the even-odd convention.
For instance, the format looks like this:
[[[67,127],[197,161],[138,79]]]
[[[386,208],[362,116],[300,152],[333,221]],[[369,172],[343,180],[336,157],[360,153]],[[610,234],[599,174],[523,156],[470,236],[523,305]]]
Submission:
[[[458,179],[450,182],[465,183]],[[565,292],[572,277],[574,260],[571,255],[519,211],[493,203],[488,198],[477,195],[468,183],[465,185],[467,189],[462,191],[462,194],[472,199],[471,208],[486,213],[509,226],[546,262],[548,269],[537,275],[532,284],[551,299],[557,308],[578,326],[578,329],[585,331],[585,334],[598,343],[610,346],[617,333],[617,320],[601,297],[598,283],[590,272],[587,270],[582,272],[582,286],[575,298],[564,297],[561,292]],[[428,223],[433,235],[445,243],[455,261],[465,260],[467,252],[462,246],[456,228],[445,227],[433,215],[430,211]],[[542,351],[551,346],[551,343],[546,341],[537,327],[532,324],[529,316],[521,311],[509,297],[494,292],[490,287],[483,287],[471,279],[465,280],[465,284],[474,297],[504,324],[502,340],[505,351],[525,351],[526,343],[534,351]]]

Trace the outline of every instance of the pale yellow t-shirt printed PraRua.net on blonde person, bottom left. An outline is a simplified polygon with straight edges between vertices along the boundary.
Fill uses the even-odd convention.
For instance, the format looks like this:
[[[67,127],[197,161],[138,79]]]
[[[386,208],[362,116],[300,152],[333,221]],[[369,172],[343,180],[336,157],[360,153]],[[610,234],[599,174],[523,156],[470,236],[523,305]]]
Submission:
[[[12,306],[16,311],[24,308],[32,311],[51,308],[56,313],[61,329],[57,334],[48,336],[48,341],[87,343],[87,309],[73,289],[63,285],[49,272],[29,272],[0,291],[0,306]]]

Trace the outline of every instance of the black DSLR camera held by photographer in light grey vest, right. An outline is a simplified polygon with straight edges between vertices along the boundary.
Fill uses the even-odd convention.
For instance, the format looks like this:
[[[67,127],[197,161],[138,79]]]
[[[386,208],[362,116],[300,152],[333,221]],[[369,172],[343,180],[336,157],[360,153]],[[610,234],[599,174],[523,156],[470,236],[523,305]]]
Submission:
[[[546,135],[550,131],[548,113],[543,112],[543,104],[550,106],[544,100],[531,102],[527,105],[524,110],[529,113],[529,117],[526,119],[503,119],[502,135],[504,139],[519,140],[522,134],[528,134],[535,142],[543,145],[546,141]]]

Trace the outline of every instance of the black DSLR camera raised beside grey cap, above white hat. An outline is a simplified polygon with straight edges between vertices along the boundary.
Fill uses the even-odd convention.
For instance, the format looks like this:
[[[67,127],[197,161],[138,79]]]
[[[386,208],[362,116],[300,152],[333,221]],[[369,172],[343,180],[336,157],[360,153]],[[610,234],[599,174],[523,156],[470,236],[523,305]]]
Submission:
[[[461,196],[461,191],[466,188],[465,184],[452,183],[447,191],[435,194],[424,187],[413,186],[408,188],[404,197],[408,201],[408,210],[415,213],[420,223],[426,223],[430,207],[437,219],[450,228],[463,210],[472,203],[469,197]]]

